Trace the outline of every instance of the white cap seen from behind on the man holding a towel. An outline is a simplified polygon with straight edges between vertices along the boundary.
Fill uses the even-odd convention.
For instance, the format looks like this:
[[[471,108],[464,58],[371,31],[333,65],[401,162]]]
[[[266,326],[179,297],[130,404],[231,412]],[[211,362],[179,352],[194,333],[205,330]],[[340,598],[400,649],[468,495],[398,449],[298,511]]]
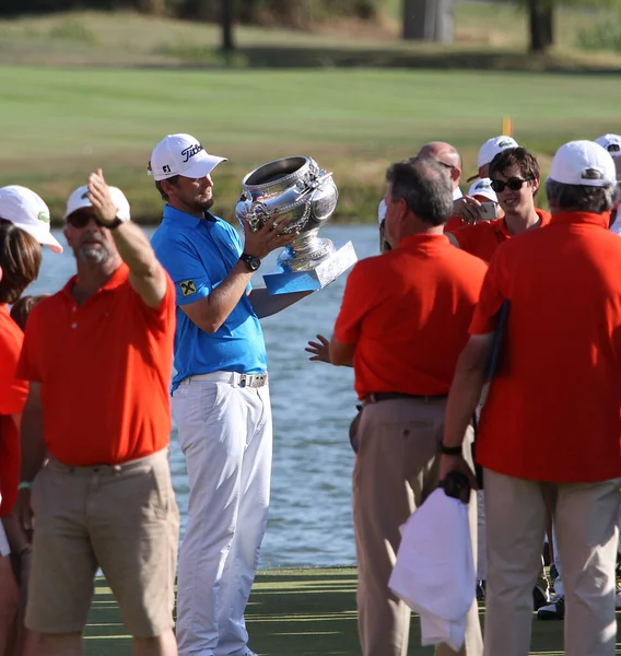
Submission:
[[[604,187],[617,184],[614,162],[595,141],[570,141],[552,160],[550,180],[563,185]]]

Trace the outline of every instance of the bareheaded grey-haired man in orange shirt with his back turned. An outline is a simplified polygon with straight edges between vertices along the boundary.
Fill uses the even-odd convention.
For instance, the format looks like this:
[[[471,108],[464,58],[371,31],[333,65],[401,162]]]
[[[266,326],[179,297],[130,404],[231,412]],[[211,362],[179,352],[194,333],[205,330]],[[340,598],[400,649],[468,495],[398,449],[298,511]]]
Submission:
[[[392,164],[385,201],[391,249],[353,268],[329,344],[332,364],[353,363],[364,403],[353,471],[364,656],[408,651],[410,609],[390,591],[388,579],[399,527],[438,484],[446,397],[487,270],[443,234],[453,211],[446,167],[421,157]],[[472,430],[464,432],[469,458]],[[473,502],[469,515],[474,531]],[[435,653],[455,654],[445,644]],[[459,653],[482,654],[474,599]]]

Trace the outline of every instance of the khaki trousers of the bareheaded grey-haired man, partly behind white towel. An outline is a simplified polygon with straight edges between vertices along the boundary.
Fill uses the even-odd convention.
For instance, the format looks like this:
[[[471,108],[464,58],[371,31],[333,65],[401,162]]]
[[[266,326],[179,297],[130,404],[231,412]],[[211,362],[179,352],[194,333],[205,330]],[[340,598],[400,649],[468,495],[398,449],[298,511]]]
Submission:
[[[437,488],[446,399],[395,399],[364,408],[353,471],[353,519],[358,555],[358,622],[363,656],[406,656],[410,609],[388,588],[401,541],[399,527]],[[465,455],[471,464],[471,430]],[[477,502],[469,504],[477,535]],[[477,540],[472,541],[474,562]],[[474,595],[474,590],[472,590]],[[468,614],[460,656],[481,656],[476,600]],[[455,654],[446,645],[436,656]]]

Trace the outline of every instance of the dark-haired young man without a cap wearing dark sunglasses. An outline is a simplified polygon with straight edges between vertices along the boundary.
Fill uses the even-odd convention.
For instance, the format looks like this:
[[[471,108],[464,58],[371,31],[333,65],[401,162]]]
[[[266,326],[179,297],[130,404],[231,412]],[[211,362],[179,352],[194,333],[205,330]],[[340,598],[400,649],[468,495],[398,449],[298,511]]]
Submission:
[[[505,149],[492,160],[489,173],[505,215],[465,225],[448,235],[455,246],[487,262],[504,242],[550,222],[550,214],[535,206],[541,177],[535,155],[520,147]]]

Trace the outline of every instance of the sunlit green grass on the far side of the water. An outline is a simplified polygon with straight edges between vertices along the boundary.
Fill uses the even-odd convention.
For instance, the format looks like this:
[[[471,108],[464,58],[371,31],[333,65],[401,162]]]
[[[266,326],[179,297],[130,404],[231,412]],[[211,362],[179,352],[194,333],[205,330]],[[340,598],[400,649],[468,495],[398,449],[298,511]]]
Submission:
[[[188,71],[0,67],[0,184],[32,186],[58,218],[68,194],[103,166],[136,218],[161,201],[145,174],[153,145],[187,131],[230,161],[214,175],[231,215],[239,181],[281,156],[335,172],[339,216],[374,220],[386,166],[443,139],[465,172],[512,116],[543,168],[564,141],[618,131],[621,89],[608,75],[474,71]],[[467,177],[467,176],[465,176]]]

